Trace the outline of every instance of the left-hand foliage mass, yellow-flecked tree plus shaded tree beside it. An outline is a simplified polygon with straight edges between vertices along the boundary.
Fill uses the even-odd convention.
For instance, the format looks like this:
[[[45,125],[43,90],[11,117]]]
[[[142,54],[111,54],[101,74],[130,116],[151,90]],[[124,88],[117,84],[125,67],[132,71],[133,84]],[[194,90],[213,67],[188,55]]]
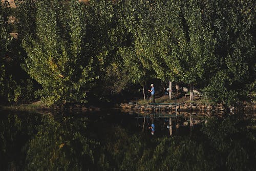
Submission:
[[[121,7],[108,1],[92,1],[89,6],[71,1],[67,9],[62,1],[20,5],[23,13],[32,12],[20,14],[20,28],[35,27],[22,32],[26,71],[42,85],[39,95],[46,102],[84,103],[87,92],[89,98],[104,98],[124,88],[125,71],[115,67],[122,66],[117,51],[126,41]],[[119,78],[112,79],[113,70]],[[104,91],[106,86],[112,88]]]

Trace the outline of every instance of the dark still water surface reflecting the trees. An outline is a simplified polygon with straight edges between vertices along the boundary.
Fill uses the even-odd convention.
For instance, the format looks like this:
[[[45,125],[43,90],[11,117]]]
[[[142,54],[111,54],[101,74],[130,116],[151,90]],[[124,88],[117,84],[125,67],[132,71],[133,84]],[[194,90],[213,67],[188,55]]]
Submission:
[[[254,170],[256,161],[248,113],[0,113],[0,170]]]

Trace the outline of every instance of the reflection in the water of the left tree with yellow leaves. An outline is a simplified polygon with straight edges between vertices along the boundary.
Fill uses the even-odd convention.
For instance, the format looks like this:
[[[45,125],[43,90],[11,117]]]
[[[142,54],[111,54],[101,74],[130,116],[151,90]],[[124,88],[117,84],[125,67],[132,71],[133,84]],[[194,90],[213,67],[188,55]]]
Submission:
[[[27,148],[27,168],[71,170],[92,167],[97,143],[87,138],[86,119],[43,118]]]

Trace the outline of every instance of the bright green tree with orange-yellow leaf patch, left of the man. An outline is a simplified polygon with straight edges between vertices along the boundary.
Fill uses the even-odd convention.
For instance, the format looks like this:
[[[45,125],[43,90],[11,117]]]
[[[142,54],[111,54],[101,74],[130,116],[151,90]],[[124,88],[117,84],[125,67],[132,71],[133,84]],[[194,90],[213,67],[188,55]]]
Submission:
[[[39,95],[48,104],[86,102],[92,87],[95,59],[87,52],[83,4],[71,1],[31,1],[20,4],[26,71],[42,86]],[[33,11],[34,13],[28,14]],[[35,25],[31,25],[31,19]],[[34,28],[34,30],[32,29]]]

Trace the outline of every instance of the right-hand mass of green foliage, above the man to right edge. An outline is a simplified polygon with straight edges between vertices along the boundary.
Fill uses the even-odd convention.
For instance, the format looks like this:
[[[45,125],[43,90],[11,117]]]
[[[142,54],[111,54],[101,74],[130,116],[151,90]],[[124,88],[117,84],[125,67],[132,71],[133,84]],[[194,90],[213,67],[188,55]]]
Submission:
[[[127,22],[139,59],[133,63],[162,80],[197,84],[216,103],[234,105],[255,89],[252,1],[136,3]]]

